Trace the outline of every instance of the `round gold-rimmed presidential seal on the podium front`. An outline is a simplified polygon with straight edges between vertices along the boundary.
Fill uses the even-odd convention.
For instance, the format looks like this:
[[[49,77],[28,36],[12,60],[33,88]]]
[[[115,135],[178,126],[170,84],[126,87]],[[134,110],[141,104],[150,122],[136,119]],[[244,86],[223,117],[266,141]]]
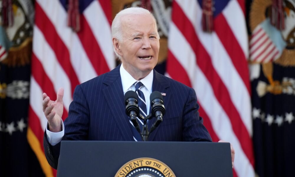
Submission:
[[[125,163],[115,177],[175,177],[163,162],[153,158],[137,158]]]

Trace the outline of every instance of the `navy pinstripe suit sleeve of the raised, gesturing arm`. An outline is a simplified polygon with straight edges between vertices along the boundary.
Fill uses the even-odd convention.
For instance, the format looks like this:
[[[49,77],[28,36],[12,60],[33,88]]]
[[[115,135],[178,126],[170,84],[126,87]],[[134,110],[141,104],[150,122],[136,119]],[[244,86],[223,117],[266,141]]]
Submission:
[[[81,85],[76,86],[73,101],[69,107],[68,118],[64,121],[65,135],[63,140],[88,140],[89,130],[89,106],[83,93]],[[60,155],[60,142],[52,146],[46,135],[43,138],[43,146],[48,163],[55,169],[58,167]]]

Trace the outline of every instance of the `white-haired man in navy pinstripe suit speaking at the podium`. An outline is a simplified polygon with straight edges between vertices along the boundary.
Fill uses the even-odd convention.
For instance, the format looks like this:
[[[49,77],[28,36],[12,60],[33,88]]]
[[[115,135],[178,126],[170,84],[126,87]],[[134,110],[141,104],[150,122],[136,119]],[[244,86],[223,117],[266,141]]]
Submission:
[[[124,104],[124,94],[135,91],[137,83],[143,84],[137,92],[146,106],[141,107],[143,114],[149,114],[152,91],[165,93],[166,113],[150,134],[150,141],[212,141],[199,117],[195,91],[153,70],[160,47],[153,15],[139,7],[124,9],[112,22],[112,35],[122,64],[76,87],[64,124],[63,89],[56,101],[43,94],[43,112],[48,120],[44,148],[50,165],[57,168],[61,140],[138,140]]]

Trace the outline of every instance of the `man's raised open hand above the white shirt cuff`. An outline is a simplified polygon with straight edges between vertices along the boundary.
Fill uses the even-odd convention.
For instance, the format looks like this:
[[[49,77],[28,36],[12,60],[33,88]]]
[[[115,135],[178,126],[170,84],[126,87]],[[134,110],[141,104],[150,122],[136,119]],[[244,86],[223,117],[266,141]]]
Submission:
[[[51,132],[61,131],[61,117],[63,115],[63,88],[57,92],[56,101],[50,100],[46,93],[42,94],[42,107],[46,119],[48,120],[49,130]]]

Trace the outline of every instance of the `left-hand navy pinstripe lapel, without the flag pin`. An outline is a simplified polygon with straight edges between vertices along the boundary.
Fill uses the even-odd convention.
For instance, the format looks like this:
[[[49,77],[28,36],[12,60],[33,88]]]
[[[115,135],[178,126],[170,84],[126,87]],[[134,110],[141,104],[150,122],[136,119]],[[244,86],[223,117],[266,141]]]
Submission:
[[[107,73],[103,81],[107,87],[103,89],[103,93],[124,140],[133,141],[129,118],[125,113],[120,66]]]

